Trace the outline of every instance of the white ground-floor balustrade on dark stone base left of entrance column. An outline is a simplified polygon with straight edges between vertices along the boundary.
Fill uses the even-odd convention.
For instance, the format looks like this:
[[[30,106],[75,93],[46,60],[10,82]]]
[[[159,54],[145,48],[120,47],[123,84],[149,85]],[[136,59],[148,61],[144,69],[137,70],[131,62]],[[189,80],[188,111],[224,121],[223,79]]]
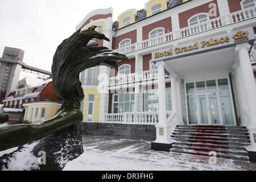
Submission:
[[[170,118],[172,111],[167,111]],[[105,114],[105,123],[117,123],[126,125],[156,125],[158,123],[158,112],[131,112],[121,114]]]

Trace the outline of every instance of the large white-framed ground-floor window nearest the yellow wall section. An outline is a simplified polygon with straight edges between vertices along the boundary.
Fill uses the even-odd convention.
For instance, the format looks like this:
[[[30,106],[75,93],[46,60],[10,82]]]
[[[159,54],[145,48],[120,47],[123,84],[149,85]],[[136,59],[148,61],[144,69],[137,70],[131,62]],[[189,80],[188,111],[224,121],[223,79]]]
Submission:
[[[113,98],[113,113],[134,111],[134,93],[115,94]]]

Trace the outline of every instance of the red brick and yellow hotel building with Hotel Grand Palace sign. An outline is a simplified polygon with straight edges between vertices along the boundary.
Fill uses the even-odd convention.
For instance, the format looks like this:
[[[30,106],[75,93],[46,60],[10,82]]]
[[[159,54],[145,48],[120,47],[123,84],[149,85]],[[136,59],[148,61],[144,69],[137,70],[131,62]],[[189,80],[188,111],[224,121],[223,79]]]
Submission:
[[[256,0],[150,0],[142,8],[117,20],[112,8],[94,10],[76,27],[97,26],[110,42],[89,44],[130,59],[118,71],[80,74],[84,127],[150,140],[153,150],[254,161]]]

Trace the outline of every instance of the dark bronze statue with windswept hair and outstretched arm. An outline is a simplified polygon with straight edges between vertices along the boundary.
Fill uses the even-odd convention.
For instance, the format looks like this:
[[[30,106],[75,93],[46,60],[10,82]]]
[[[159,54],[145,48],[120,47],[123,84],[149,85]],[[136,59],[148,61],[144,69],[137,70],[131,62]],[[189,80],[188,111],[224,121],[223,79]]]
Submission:
[[[68,161],[82,154],[79,124],[82,122],[80,102],[84,100],[84,91],[79,80],[80,72],[98,65],[118,69],[118,60],[129,61],[125,55],[107,47],[88,45],[91,39],[109,41],[95,28],[79,30],[57,47],[52,79],[62,105],[54,117],[30,125],[0,127],[0,151],[21,146],[0,157],[0,170],[9,169],[9,164],[19,152],[32,152],[36,158],[40,157],[40,151],[46,152],[46,164],[35,162],[27,170],[61,170]]]

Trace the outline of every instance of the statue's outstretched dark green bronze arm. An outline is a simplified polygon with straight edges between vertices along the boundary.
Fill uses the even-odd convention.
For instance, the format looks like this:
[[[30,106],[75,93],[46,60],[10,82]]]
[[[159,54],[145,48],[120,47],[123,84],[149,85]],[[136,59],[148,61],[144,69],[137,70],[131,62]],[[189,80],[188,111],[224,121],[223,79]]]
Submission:
[[[0,151],[33,142],[81,121],[81,111],[73,109],[62,111],[44,122],[1,127]]]

